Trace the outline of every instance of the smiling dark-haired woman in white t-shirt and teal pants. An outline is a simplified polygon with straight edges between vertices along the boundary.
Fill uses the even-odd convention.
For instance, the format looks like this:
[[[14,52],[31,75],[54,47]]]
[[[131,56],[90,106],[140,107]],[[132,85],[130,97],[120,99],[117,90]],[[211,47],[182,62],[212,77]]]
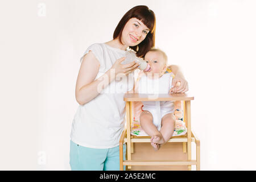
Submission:
[[[118,77],[121,74],[128,77],[138,67],[135,61],[129,64],[122,61],[128,47],[143,57],[154,44],[154,12],[147,6],[135,6],[118,23],[113,40],[92,44],[86,49],[76,82],[76,100],[80,106],[72,123],[72,170],[119,170],[119,138],[125,126],[123,95],[133,89],[133,82],[129,80],[127,84],[126,79]],[[175,91],[187,91],[187,81],[176,67],[173,69],[177,73],[175,81],[181,82]],[[126,90],[106,92],[116,88]],[[123,154],[125,152],[123,144]]]

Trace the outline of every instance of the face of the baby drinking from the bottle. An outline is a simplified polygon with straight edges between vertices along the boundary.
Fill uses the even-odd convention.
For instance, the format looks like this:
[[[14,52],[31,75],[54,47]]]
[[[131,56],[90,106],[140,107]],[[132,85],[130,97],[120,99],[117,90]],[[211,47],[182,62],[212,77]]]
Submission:
[[[162,75],[164,64],[164,57],[159,51],[149,51],[146,53],[144,60],[150,64],[150,70],[144,73],[159,73]]]

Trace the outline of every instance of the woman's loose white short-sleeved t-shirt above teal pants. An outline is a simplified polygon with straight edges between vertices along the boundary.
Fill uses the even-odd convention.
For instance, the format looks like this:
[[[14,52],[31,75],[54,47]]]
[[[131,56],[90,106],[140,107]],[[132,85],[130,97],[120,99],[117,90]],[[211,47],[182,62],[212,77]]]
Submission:
[[[126,55],[126,51],[105,43],[92,44],[86,49],[84,55],[89,51],[92,51],[100,62],[96,79],[104,75],[117,59]],[[129,78],[126,76],[119,81],[114,80],[93,100],[84,105],[79,105],[73,118],[71,140],[81,146],[90,148],[118,146],[125,126],[123,95],[128,90],[133,89],[133,84],[133,74]]]

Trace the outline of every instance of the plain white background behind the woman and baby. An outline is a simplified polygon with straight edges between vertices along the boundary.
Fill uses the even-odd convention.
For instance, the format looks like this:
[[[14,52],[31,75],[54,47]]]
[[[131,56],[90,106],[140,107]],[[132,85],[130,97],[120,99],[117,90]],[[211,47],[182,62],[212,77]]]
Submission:
[[[0,169],[70,169],[79,59],[137,5],[195,96],[201,169],[256,170],[256,2],[238,0],[1,1]]]

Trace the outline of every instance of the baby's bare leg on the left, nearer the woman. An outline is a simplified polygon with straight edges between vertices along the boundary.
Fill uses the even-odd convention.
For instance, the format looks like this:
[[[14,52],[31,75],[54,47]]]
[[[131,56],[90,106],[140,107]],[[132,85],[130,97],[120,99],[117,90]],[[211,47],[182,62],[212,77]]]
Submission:
[[[164,143],[162,134],[158,131],[153,123],[153,117],[150,111],[143,111],[139,117],[142,129],[146,134],[150,135],[151,142],[153,143]]]

